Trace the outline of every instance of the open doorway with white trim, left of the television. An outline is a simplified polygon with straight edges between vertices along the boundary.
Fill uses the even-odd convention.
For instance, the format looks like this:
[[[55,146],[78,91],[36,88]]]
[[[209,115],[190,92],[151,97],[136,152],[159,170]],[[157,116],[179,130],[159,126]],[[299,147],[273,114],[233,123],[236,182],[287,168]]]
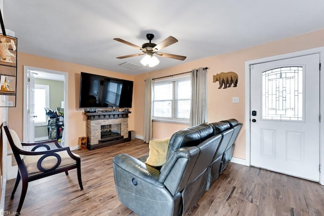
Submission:
[[[23,137],[24,142],[35,142],[41,140],[50,139],[49,129],[51,129],[51,125],[48,125],[48,118],[51,120],[51,115],[46,115],[47,119],[39,120],[39,116],[35,114],[35,108],[39,108],[44,111],[44,114],[52,111],[62,111],[64,112],[64,116],[67,116],[67,95],[68,95],[68,73],[62,71],[54,71],[43,68],[35,68],[30,66],[24,66],[24,128],[23,128]],[[46,88],[48,87],[48,88]],[[48,90],[52,87],[52,90]],[[47,89],[47,91],[46,91]],[[36,92],[35,92],[36,90]],[[43,91],[42,91],[43,90]],[[34,100],[39,92],[47,92],[51,93],[49,106],[43,107],[43,105],[36,105],[34,102],[38,102],[39,100]],[[35,95],[36,94],[36,95]],[[39,97],[39,96],[38,96]],[[48,96],[47,96],[48,97]],[[46,97],[46,98],[47,98]],[[44,101],[45,103],[45,101]],[[46,109],[45,109],[46,108]],[[36,109],[37,111],[37,109]],[[39,111],[38,111],[39,113]],[[44,116],[44,114],[42,114]],[[35,119],[37,122],[35,122]],[[62,118],[58,118],[57,120],[62,120]],[[60,123],[62,123],[60,121]],[[64,129],[55,128],[58,131],[57,139],[61,139],[61,144],[64,146],[67,142],[67,125],[68,119],[64,118]],[[59,131],[60,130],[60,131]],[[36,136],[36,137],[35,137]],[[53,139],[53,135],[51,134],[51,139]],[[56,137],[55,137],[56,138]],[[62,139],[63,138],[63,139]]]

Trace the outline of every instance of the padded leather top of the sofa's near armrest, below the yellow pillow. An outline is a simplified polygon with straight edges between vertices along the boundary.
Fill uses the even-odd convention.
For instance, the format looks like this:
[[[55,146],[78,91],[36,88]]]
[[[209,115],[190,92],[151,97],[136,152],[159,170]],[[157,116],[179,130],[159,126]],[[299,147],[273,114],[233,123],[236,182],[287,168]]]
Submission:
[[[139,178],[156,187],[163,188],[164,184],[158,181],[160,172],[154,167],[147,165],[139,159],[128,154],[117,154],[113,157],[113,165],[119,166],[126,172],[132,174],[135,179]]]

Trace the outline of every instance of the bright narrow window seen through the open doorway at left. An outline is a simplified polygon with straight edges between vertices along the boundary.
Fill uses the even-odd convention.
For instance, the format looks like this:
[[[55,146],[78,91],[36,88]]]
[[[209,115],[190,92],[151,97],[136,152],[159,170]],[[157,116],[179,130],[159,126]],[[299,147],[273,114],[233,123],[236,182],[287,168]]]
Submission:
[[[35,126],[47,125],[48,116],[45,107],[50,107],[50,86],[35,84],[34,93],[34,118]]]

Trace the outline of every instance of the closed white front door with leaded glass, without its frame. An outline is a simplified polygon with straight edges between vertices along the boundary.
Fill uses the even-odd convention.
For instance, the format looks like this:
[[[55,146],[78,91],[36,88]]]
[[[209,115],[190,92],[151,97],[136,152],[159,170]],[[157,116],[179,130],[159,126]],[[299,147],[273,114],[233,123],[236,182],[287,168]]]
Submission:
[[[319,54],[251,65],[251,165],[319,181]]]

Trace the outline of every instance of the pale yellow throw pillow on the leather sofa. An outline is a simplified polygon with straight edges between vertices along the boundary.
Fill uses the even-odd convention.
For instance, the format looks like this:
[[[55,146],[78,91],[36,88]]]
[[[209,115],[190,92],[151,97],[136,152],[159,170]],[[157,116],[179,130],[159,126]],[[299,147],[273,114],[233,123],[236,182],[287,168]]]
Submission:
[[[167,152],[170,138],[164,140],[150,140],[148,144],[149,153],[146,164],[150,166],[163,166],[167,162]]]

